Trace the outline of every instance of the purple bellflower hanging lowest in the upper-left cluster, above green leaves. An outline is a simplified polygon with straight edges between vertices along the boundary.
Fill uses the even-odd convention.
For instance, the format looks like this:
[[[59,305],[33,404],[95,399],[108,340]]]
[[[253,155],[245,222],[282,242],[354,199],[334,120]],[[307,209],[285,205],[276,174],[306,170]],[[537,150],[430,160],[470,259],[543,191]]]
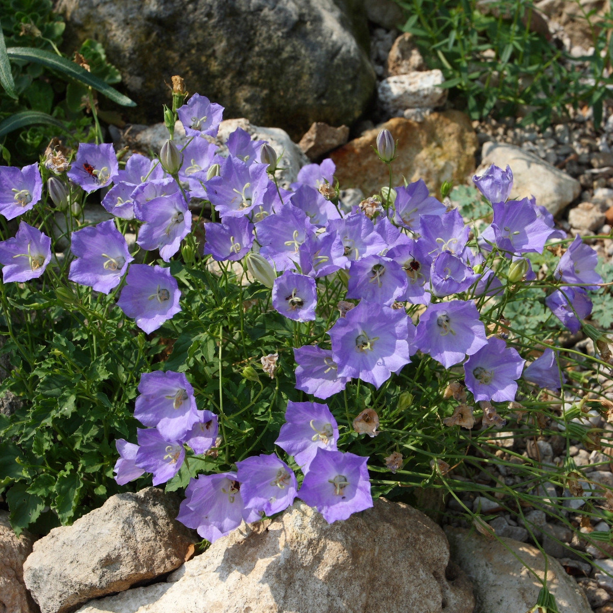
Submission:
[[[132,264],[117,306],[147,333],[157,330],[181,310],[177,281],[169,268]]]

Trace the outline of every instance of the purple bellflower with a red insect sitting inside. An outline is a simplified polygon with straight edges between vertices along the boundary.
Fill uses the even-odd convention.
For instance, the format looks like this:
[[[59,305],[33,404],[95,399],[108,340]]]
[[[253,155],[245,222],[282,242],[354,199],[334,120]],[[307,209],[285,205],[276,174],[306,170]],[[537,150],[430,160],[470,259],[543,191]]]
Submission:
[[[109,186],[118,176],[119,164],[110,143],[81,143],[75,161],[66,173],[88,194]]]

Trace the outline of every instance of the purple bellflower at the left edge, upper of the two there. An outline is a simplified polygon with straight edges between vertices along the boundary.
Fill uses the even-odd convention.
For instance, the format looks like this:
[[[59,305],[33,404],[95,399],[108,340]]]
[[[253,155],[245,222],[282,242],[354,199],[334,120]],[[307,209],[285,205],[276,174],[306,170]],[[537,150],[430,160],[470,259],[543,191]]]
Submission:
[[[29,211],[42,196],[42,179],[38,164],[22,169],[0,166],[0,213],[14,219]]]

